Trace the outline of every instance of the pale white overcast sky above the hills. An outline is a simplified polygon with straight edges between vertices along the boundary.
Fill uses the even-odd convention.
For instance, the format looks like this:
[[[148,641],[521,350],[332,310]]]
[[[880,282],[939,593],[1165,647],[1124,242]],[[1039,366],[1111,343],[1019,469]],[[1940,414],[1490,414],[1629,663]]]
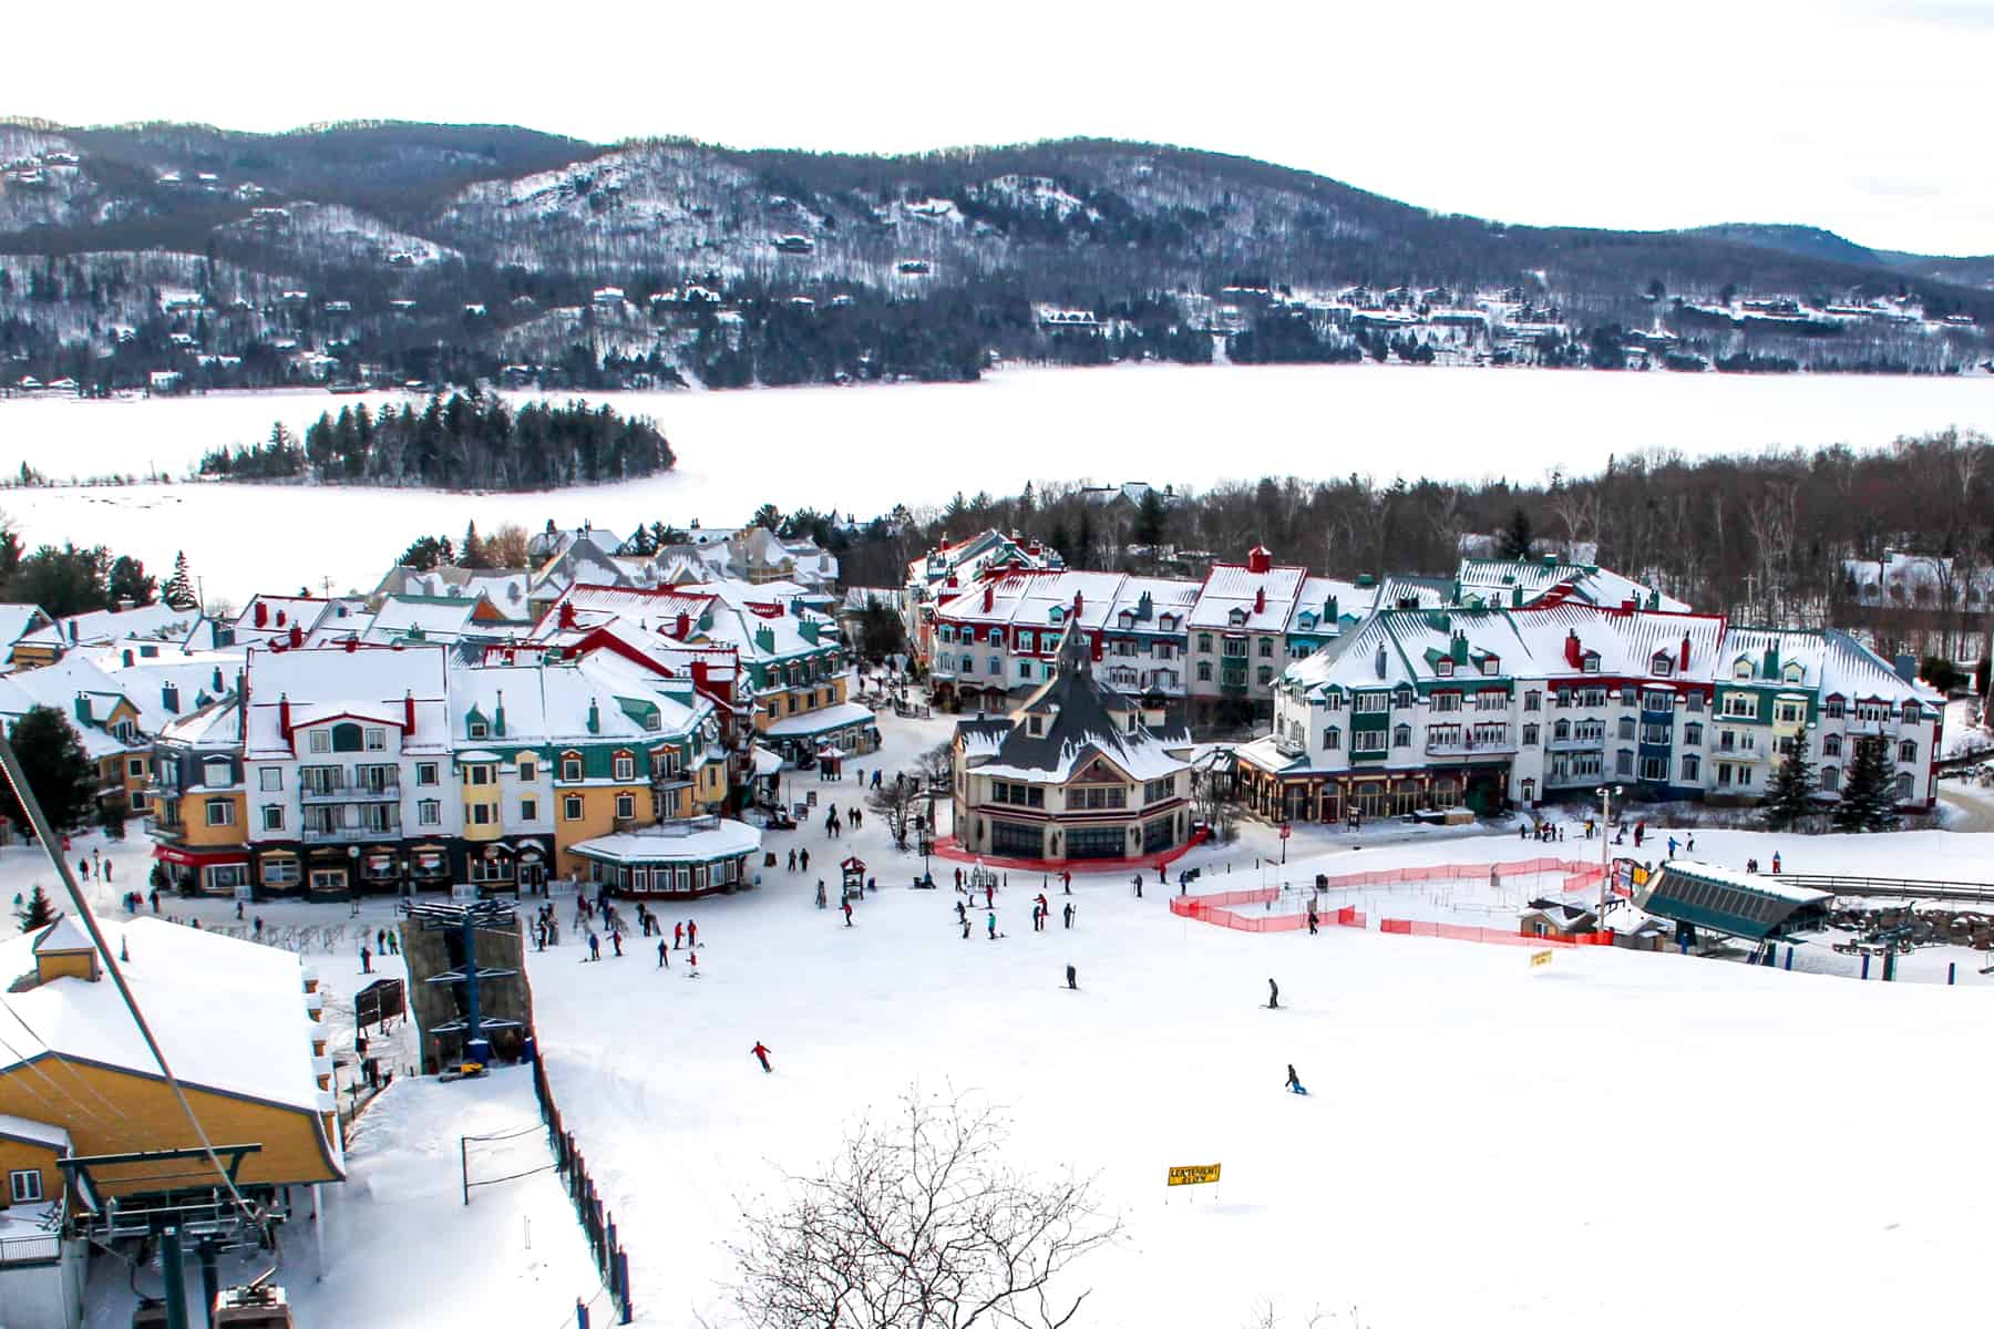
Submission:
[[[504,122],[845,151],[1091,133],[1503,221],[1797,221],[1994,253],[1994,0],[114,0],[76,14],[88,40],[44,26],[42,56],[8,62],[0,112]]]

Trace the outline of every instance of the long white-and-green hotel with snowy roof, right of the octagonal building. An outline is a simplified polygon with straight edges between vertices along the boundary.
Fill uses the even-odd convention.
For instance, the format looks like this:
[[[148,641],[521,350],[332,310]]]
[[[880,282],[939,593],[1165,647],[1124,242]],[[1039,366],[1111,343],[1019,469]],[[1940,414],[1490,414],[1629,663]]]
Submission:
[[[1384,610],[1274,691],[1236,749],[1240,791],[1284,821],[1496,813],[1621,785],[1643,799],[1763,797],[1797,741],[1834,799],[1858,739],[1884,741],[1896,801],[1930,807],[1942,699],[1908,660],[1836,630],[1601,610]]]

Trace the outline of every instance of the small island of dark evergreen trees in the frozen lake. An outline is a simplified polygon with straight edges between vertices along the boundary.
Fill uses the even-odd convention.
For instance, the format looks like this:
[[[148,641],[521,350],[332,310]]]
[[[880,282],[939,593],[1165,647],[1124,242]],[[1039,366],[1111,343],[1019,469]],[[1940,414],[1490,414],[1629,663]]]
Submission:
[[[379,414],[367,404],[325,412],[303,438],[273,424],[251,446],[213,448],[215,480],[301,480],[453,490],[540,490],[634,480],[670,470],[672,444],[648,418],[584,400],[518,408],[493,393],[451,393]]]

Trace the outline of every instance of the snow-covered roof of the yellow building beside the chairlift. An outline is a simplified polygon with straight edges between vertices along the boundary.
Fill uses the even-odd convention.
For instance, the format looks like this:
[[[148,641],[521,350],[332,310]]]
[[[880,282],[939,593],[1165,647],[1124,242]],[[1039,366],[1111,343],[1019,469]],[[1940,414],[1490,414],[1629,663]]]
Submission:
[[[166,1048],[173,1074],[195,1088],[319,1112],[305,980],[295,954],[164,919],[102,919],[106,944]],[[0,972],[34,968],[34,938],[0,942]],[[0,994],[18,1020],[0,1044],[0,1070],[44,1050],[142,1076],[158,1062],[108,980],[52,978]],[[225,1012],[225,1036],[217,1018]]]

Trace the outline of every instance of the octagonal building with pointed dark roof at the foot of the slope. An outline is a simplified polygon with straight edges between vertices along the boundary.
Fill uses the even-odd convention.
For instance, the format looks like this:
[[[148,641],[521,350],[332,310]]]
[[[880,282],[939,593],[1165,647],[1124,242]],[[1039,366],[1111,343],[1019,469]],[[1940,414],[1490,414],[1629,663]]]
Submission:
[[[1190,733],[1101,681],[1079,626],[1053,677],[955,727],[955,839],[975,855],[1143,861],[1190,839]]]

